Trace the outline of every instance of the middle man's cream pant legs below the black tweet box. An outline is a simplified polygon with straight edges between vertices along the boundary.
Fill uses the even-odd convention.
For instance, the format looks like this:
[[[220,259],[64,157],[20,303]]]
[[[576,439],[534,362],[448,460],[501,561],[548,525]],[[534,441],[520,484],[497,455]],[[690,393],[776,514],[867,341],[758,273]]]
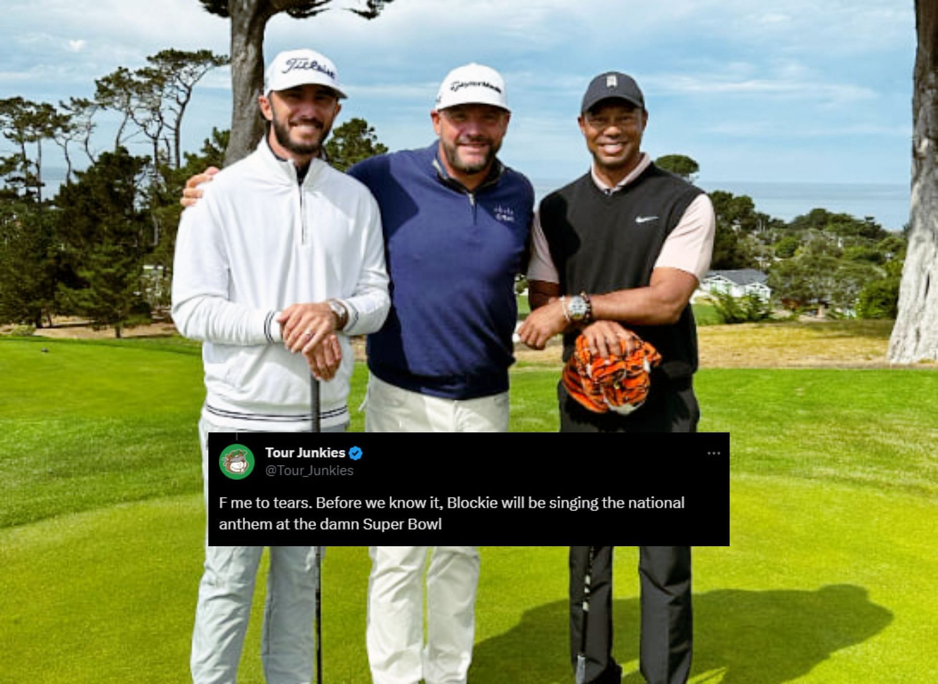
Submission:
[[[477,547],[371,546],[369,553],[367,641],[374,684],[417,684],[421,679],[464,684],[476,632]]]

